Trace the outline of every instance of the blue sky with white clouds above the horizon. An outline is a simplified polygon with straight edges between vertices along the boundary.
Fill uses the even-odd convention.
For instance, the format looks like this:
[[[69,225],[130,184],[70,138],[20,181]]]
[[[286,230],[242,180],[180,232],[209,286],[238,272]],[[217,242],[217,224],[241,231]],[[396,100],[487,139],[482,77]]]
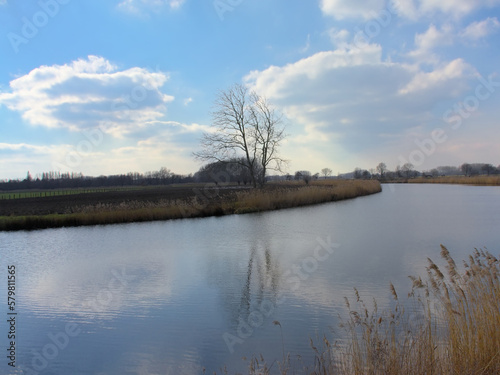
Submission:
[[[500,0],[0,0],[0,179],[194,173],[236,83],[288,173],[496,166]]]

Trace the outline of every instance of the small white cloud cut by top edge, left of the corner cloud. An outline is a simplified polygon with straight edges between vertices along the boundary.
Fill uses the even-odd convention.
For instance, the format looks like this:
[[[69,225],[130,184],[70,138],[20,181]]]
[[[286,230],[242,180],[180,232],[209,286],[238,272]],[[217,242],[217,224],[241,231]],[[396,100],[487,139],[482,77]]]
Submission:
[[[384,0],[321,0],[321,11],[337,20],[371,19],[383,9],[384,3]]]

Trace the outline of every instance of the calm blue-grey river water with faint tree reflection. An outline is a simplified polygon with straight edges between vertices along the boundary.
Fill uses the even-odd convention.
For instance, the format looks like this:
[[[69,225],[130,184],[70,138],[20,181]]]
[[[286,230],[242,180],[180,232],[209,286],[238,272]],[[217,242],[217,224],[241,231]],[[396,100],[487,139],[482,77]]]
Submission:
[[[267,213],[0,233],[0,298],[14,265],[17,313],[16,368],[3,354],[0,373],[235,373],[283,346],[300,368],[310,338],[339,337],[354,287],[388,306],[389,283],[406,295],[440,244],[457,263],[498,255],[499,228],[498,187],[405,184]]]

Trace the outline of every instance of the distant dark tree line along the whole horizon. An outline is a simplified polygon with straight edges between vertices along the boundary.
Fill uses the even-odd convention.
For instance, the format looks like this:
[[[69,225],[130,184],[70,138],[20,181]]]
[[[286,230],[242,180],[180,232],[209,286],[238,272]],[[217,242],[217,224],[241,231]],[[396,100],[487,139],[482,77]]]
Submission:
[[[254,166],[253,176],[263,175],[259,165]],[[294,175],[266,176],[266,180],[295,180],[304,181],[308,184],[312,180],[320,178],[331,178],[332,170],[323,168],[320,173],[312,174],[307,170],[296,171]],[[406,163],[397,166],[394,171],[387,168],[385,163],[379,163],[376,168],[366,170],[356,168],[351,173],[338,175],[339,178],[354,179],[381,179],[393,180],[398,178],[415,177],[440,177],[440,176],[478,176],[499,175],[500,165],[495,167],[488,163],[464,163],[458,167],[440,166],[428,171],[417,171],[413,164]],[[69,173],[50,171],[37,174],[32,177],[28,172],[25,179],[0,180],[0,191],[29,190],[29,189],[71,189],[71,188],[97,188],[116,186],[155,186],[182,183],[237,183],[238,185],[253,185],[252,173],[242,165],[241,159],[229,159],[227,161],[216,161],[203,165],[194,175],[181,175],[173,173],[166,167],[158,171],[145,173],[129,172],[127,174],[90,177],[82,173]]]

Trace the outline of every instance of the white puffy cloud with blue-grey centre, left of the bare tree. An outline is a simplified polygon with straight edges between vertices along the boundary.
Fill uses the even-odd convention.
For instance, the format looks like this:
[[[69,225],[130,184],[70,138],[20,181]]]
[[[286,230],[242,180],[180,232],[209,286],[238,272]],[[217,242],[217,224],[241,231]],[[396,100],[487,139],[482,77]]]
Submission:
[[[66,65],[38,67],[10,82],[0,104],[21,113],[32,125],[78,131],[106,124],[121,136],[164,116],[172,96],[160,88],[163,72],[119,70],[108,60],[89,56]]]

